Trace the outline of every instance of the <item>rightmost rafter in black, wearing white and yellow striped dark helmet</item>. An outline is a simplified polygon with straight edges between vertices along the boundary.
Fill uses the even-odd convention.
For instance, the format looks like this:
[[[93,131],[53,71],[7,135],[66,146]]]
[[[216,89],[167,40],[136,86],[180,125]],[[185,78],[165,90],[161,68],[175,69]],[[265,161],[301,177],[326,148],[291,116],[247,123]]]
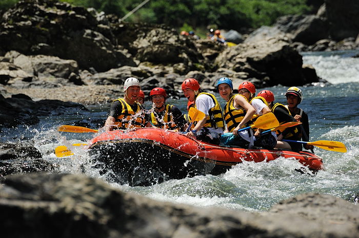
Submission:
[[[301,138],[303,141],[309,141],[309,118],[308,115],[300,109],[298,104],[300,104],[303,100],[303,93],[300,88],[290,87],[286,92],[287,97],[287,109],[290,111],[292,115],[294,115],[294,119],[298,122],[302,122],[301,127]],[[313,149],[313,145],[304,144],[305,149]]]

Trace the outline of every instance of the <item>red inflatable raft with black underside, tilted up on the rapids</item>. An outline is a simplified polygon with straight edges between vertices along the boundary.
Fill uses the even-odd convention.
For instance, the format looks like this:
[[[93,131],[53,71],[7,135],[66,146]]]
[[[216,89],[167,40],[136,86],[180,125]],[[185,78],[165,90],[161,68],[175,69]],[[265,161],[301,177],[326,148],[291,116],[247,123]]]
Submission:
[[[111,170],[120,182],[142,186],[218,175],[243,161],[269,162],[280,157],[294,158],[314,171],[324,169],[322,158],[306,151],[224,147],[159,128],[105,132],[90,141],[89,153],[95,164]]]

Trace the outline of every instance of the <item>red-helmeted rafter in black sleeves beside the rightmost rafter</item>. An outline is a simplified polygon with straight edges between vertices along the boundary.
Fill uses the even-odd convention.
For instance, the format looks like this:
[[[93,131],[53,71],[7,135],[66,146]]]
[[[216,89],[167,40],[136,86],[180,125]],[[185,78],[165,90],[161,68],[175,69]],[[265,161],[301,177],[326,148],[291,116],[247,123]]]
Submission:
[[[271,91],[263,90],[258,93],[257,96],[261,96],[266,99],[269,108],[271,109],[274,116],[278,119],[280,124],[296,121],[294,117],[291,116],[287,107],[280,103],[274,104],[274,94]],[[298,126],[287,127],[283,131],[277,131],[277,133],[276,148],[291,149],[295,152],[300,152],[302,150],[302,144],[300,143],[287,143],[285,141],[281,141],[282,139],[300,140],[301,135],[300,128]]]

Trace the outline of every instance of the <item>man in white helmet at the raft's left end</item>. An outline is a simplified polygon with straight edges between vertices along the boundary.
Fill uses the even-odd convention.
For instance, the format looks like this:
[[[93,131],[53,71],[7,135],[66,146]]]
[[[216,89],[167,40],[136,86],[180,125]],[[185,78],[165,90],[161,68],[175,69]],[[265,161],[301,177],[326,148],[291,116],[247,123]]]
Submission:
[[[130,77],[125,80],[124,98],[119,98],[112,102],[110,113],[104,126],[106,131],[146,126],[148,121],[144,107],[137,102],[139,90],[138,79]]]

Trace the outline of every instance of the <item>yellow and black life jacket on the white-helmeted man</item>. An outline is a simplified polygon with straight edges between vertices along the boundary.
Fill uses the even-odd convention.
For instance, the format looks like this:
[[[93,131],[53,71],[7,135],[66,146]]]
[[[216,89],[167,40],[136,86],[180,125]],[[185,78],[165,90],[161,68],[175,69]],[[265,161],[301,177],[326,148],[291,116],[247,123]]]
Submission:
[[[141,112],[142,110],[138,102],[136,102],[137,109],[134,112],[130,104],[128,104],[123,98],[119,98],[113,101],[119,101],[122,105],[122,112],[115,118],[114,123],[118,129],[145,127],[145,113]]]

